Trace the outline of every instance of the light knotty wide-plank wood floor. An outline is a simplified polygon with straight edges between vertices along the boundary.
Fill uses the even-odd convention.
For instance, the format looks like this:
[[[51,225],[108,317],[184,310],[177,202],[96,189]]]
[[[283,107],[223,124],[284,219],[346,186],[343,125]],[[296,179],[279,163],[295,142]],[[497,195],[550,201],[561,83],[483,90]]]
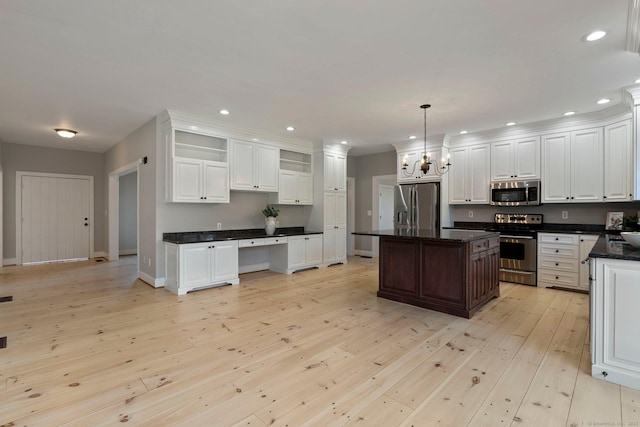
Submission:
[[[591,378],[588,297],[502,284],[466,320],[377,298],[376,260],[177,297],[135,257],[0,270],[0,425],[638,426]]]

